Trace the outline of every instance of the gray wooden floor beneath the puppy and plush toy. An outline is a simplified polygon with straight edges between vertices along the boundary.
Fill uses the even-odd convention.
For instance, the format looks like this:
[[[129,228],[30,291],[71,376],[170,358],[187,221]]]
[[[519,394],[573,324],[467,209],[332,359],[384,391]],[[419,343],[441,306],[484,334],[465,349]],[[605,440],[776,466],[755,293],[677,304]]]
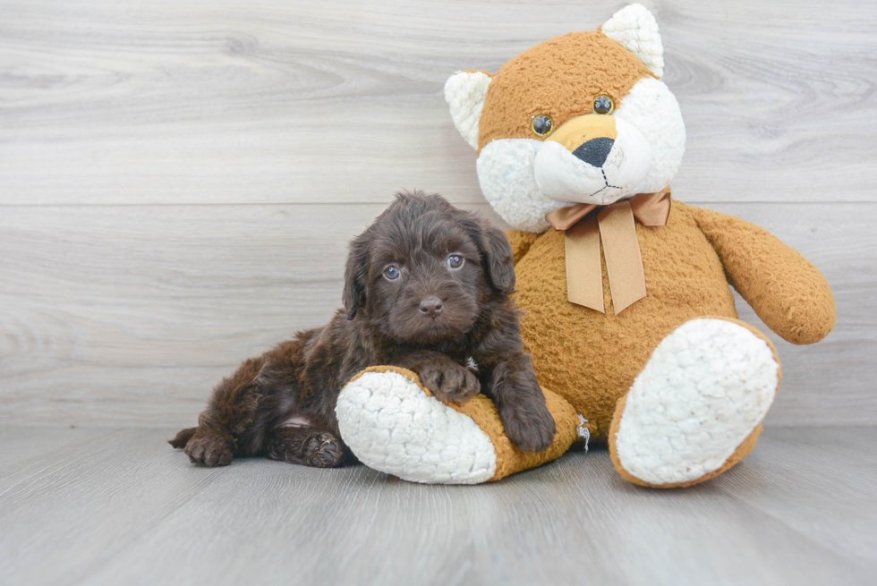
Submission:
[[[11,584],[873,584],[877,428],[768,429],[706,485],[566,454],[494,485],[197,468],[170,429],[0,428]]]

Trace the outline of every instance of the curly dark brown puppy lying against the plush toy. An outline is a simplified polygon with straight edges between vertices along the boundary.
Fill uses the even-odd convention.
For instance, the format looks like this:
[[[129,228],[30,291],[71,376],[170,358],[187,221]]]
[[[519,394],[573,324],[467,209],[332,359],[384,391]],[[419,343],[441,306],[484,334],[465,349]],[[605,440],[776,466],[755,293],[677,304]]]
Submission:
[[[369,366],[412,369],[443,401],[482,392],[524,451],[549,446],[554,420],[524,354],[506,235],[438,195],[400,193],[350,247],[344,305],[325,327],[244,361],[198,427],[170,440],[193,463],[236,455],[328,467],[343,462],[335,405]]]

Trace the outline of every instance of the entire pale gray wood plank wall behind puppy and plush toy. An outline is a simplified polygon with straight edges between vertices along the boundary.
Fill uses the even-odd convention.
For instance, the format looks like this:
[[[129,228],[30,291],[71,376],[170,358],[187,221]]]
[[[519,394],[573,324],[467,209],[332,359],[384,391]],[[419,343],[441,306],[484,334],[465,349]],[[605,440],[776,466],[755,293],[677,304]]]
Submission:
[[[191,424],[328,319],[396,189],[490,213],[447,75],[623,4],[0,1],[0,423]],[[687,123],[674,193],[837,296],[822,344],[778,344],[769,423],[877,422],[877,4],[645,4]]]

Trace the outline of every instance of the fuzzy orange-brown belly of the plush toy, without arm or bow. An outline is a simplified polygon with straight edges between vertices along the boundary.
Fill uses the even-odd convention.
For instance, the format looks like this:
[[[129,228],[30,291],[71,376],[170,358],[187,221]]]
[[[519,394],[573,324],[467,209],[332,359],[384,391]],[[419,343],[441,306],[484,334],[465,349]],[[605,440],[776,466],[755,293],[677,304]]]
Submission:
[[[542,234],[515,267],[524,342],[540,383],[596,424],[600,437],[664,336],[691,318],[737,317],[719,257],[683,206],[675,203],[666,226],[636,228],[647,296],[618,316],[605,264],[605,314],[566,301],[562,233]]]

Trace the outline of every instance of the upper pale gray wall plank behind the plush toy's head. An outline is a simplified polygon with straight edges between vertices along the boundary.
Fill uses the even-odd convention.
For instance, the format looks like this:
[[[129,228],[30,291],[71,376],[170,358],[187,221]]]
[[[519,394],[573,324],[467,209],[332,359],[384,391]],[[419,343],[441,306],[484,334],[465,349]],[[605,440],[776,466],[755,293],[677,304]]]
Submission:
[[[875,201],[877,4],[647,2],[708,201]],[[623,3],[0,3],[0,204],[480,202],[442,86]]]

